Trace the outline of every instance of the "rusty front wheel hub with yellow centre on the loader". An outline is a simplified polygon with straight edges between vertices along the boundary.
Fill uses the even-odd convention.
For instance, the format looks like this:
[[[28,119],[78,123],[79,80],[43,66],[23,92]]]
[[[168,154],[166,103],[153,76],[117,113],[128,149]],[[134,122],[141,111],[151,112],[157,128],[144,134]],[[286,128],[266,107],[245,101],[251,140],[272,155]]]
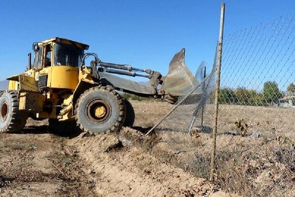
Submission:
[[[96,124],[106,122],[111,116],[111,113],[111,106],[103,99],[95,99],[89,102],[86,109],[88,119]]]

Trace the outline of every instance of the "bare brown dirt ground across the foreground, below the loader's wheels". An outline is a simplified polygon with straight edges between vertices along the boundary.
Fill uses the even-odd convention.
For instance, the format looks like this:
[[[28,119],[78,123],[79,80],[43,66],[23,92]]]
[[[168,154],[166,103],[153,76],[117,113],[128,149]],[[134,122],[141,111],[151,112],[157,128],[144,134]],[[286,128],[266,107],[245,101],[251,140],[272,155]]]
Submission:
[[[0,196],[231,196],[165,159],[170,137],[123,146],[122,133],[71,139],[39,123],[0,134]]]

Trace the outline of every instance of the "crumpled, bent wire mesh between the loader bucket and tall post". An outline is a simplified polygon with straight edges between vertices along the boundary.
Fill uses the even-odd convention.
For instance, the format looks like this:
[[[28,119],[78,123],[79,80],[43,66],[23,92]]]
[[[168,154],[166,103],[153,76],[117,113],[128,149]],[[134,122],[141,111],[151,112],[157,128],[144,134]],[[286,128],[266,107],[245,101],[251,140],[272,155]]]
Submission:
[[[216,55],[215,55],[216,56]],[[216,58],[211,72],[206,73],[208,68],[205,61],[202,61],[195,75],[195,84],[186,88],[184,93],[178,98],[174,106],[176,109],[161,123],[155,127],[155,131],[177,131],[190,133],[191,130],[209,133],[212,131],[211,119],[206,118],[213,111],[206,111],[205,106],[209,104],[211,108],[212,96],[214,92]],[[173,107],[174,107],[173,106]],[[206,116],[206,117],[204,117]],[[210,117],[210,116],[209,116]]]

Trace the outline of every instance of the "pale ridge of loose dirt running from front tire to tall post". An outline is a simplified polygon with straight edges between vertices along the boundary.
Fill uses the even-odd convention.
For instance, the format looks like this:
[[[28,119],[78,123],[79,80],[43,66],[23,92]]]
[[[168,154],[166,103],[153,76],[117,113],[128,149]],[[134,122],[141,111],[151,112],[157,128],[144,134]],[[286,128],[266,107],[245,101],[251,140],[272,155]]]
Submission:
[[[205,179],[161,162],[148,150],[132,144],[138,137],[141,142],[151,142],[151,137],[145,138],[127,128],[121,136],[129,136],[125,139],[129,143],[112,151],[106,150],[120,138],[113,134],[72,142],[84,160],[91,163],[89,173],[97,174],[97,193],[102,196],[209,196],[212,193],[214,187]]]

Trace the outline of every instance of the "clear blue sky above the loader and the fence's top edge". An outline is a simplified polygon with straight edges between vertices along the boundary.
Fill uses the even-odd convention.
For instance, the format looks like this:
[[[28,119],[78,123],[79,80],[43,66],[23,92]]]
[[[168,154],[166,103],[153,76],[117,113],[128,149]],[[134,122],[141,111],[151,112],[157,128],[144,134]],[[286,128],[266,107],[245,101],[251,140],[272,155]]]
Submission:
[[[0,81],[24,71],[32,42],[51,37],[89,44],[102,61],[163,75],[185,47],[195,73],[202,60],[213,62],[222,2],[225,34],[295,11],[294,1],[2,1]]]

